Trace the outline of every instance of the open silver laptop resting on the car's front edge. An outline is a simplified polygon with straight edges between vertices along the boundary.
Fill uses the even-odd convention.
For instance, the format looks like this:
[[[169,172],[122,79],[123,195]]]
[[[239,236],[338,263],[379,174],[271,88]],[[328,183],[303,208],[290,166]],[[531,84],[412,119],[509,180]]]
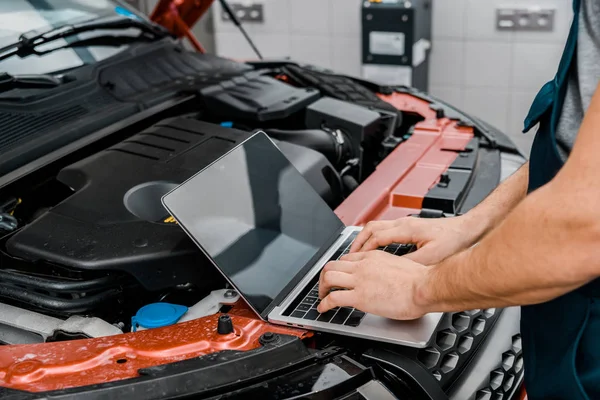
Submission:
[[[167,193],[163,206],[264,321],[426,347],[442,314],[395,321],[354,308],[320,314],[318,281],[347,254],[346,227],[263,132]],[[381,249],[403,255],[412,246]]]

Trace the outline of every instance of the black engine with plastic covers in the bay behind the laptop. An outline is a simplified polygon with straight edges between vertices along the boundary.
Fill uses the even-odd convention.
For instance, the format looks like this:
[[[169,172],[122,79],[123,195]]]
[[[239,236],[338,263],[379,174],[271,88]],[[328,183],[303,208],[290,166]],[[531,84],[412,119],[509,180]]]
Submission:
[[[162,120],[6,199],[2,315],[21,307],[129,331],[145,304],[192,306],[225,282],[166,213],[162,195],[263,130],[335,209],[409,134],[402,113],[372,90],[296,65],[212,77],[198,93],[197,112]],[[9,325],[0,321],[0,330]],[[19,339],[18,328],[0,342],[89,337],[63,326]]]

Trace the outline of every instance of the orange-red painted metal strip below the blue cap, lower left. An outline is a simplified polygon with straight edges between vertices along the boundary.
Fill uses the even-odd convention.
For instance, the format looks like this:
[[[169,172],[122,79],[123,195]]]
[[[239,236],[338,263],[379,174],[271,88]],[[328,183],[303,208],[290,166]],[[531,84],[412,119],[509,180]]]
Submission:
[[[31,392],[113,382],[138,376],[142,368],[221,350],[260,347],[265,332],[309,337],[309,332],[270,325],[240,302],[230,313],[234,332],[217,333],[219,315],[165,328],[67,342],[0,347],[0,386]]]

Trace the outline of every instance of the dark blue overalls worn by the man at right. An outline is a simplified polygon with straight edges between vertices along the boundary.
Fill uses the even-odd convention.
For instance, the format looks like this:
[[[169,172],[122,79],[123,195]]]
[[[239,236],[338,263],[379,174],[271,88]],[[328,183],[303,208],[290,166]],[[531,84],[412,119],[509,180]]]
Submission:
[[[581,0],[574,0],[573,8],[558,73],[541,89],[525,120],[525,132],[540,123],[531,151],[529,191],[548,183],[563,166],[556,128],[576,55]],[[548,303],[523,307],[521,333],[530,400],[600,399],[600,280]]]

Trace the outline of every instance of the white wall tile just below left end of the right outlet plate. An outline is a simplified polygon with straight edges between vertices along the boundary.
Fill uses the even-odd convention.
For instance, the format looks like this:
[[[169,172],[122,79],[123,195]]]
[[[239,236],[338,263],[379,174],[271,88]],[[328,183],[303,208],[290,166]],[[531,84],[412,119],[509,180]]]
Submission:
[[[465,84],[506,88],[510,83],[511,58],[509,43],[467,42]]]

